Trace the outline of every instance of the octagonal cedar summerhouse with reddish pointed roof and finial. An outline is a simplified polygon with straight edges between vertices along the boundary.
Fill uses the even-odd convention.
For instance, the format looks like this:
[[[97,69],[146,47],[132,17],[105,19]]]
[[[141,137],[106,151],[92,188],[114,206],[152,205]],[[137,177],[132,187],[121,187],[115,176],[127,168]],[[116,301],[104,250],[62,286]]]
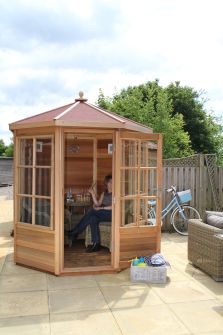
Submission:
[[[106,273],[160,250],[161,135],[80,97],[69,105],[10,124],[14,133],[15,263],[55,275]],[[113,178],[112,222],[99,225],[102,248],[86,253],[90,231],[71,243],[91,206],[94,184]],[[157,218],[148,223],[148,200]]]

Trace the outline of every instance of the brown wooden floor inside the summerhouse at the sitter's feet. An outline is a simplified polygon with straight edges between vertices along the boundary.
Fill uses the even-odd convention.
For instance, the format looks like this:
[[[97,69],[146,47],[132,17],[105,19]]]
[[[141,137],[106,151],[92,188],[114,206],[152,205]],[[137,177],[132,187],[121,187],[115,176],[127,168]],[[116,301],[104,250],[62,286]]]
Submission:
[[[104,266],[111,264],[111,253],[101,247],[97,252],[87,253],[84,240],[76,240],[72,247],[64,246],[64,267]]]

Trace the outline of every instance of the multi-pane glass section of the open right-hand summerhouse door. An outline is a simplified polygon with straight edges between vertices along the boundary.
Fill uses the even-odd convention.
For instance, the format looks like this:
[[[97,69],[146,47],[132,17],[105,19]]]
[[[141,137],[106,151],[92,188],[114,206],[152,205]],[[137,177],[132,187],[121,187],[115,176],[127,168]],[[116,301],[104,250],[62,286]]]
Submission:
[[[121,143],[121,226],[148,226],[148,201],[157,199],[157,141]]]

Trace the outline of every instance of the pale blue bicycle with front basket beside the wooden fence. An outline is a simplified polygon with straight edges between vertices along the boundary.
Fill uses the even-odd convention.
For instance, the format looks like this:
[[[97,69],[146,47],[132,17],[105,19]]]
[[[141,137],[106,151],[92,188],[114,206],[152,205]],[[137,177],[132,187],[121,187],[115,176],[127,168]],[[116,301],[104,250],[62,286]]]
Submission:
[[[172,200],[167,204],[162,210],[162,217],[164,219],[167,214],[172,211],[170,216],[170,223],[173,225],[177,233],[181,235],[188,235],[188,220],[189,219],[200,219],[200,214],[198,211],[186,205],[187,202],[192,200],[192,195],[190,190],[177,192],[175,186],[166,190],[168,193],[172,193]],[[156,201],[148,201],[148,224],[154,225],[156,222]],[[162,224],[162,221],[161,221]]]

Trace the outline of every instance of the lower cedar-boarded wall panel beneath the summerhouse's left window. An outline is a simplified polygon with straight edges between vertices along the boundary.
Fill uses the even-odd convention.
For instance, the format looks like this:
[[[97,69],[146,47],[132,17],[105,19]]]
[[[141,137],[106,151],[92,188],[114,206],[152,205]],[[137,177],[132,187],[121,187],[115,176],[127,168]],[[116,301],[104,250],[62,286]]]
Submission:
[[[54,232],[17,225],[15,262],[54,273]]]

